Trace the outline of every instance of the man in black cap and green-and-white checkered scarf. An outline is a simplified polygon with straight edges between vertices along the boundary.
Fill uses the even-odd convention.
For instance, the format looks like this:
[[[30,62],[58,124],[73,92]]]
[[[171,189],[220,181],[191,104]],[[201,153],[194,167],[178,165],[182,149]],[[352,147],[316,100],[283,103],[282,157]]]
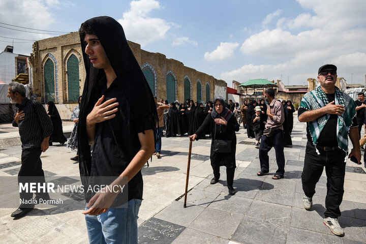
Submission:
[[[303,96],[298,110],[298,120],[307,122],[308,143],[301,174],[303,205],[310,210],[315,186],[323,172],[327,175],[324,221],[331,232],[344,236],[338,222],[339,206],[343,198],[343,185],[348,153],[348,136],[353,148],[348,158],[354,156],[358,163],[361,151],[358,125],[355,118],[356,104],[352,98],[335,86],[337,67],[323,65],[318,71],[320,86]]]

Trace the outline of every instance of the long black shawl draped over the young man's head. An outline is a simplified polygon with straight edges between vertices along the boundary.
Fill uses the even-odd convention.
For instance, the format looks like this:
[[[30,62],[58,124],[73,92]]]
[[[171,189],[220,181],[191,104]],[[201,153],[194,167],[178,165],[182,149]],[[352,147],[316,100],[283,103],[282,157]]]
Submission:
[[[146,118],[152,120],[153,124],[158,121],[158,114],[155,100],[147,84],[137,60],[127,43],[125,32],[122,26],[113,18],[108,16],[95,17],[85,21],[92,28],[95,35],[102,44],[109,62],[117,76],[115,81],[121,86],[129,104],[132,120],[135,123],[138,133],[143,132],[142,125]],[[78,123],[78,148],[79,148],[79,169],[80,175],[89,176],[92,156],[86,134],[86,116],[92,111],[100,95],[100,80],[105,77],[103,69],[96,69],[90,63],[85,53],[85,34],[80,33],[80,41],[86,79],[82,93],[80,116]],[[145,104],[146,109],[138,110],[133,101]],[[103,101],[104,102],[104,101]],[[155,123],[154,123],[155,122]]]

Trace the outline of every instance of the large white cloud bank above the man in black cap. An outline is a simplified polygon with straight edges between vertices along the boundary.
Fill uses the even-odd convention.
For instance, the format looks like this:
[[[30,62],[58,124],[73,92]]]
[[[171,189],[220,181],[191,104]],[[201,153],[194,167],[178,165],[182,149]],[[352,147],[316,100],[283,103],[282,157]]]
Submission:
[[[303,13],[294,18],[281,18],[275,29],[264,29],[242,42],[240,51],[251,59],[260,57],[262,64],[242,65],[223,72],[221,78],[246,81],[261,77],[272,79],[288,73],[290,83],[291,77],[302,77],[301,80],[306,81],[310,78],[307,75],[314,74],[314,77],[314,70],[327,63],[337,65],[342,76],[354,73],[355,79],[355,72],[359,71],[357,76],[361,78],[366,70],[366,1],[297,2],[304,9]],[[267,15],[262,26],[266,27],[280,14],[276,11]]]

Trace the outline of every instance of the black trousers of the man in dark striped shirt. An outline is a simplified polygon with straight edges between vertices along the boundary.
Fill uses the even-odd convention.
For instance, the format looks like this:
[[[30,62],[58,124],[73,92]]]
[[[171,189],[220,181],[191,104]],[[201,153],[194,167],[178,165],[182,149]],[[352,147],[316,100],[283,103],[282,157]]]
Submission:
[[[18,184],[22,183],[23,185],[31,182],[36,183],[44,183],[45,177],[42,169],[42,161],[41,161],[41,148],[31,148],[31,149],[23,149],[21,155],[21,166],[18,173]],[[25,204],[22,203],[25,201],[29,201],[33,198],[33,193],[22,191],[19,193],[20,195],[20,207],[34,207],[34,204]],[[36,193],[40,197],[47,195],[45,193]]]

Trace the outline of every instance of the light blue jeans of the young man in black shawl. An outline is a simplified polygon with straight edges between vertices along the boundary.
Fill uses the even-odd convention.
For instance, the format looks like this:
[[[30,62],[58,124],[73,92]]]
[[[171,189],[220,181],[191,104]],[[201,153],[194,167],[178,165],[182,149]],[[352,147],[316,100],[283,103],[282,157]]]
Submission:
[[[137,219],[140,199],[132,199],[127,208],[109,208],[97,216],[85,215],[91,244],[137,243]]]

